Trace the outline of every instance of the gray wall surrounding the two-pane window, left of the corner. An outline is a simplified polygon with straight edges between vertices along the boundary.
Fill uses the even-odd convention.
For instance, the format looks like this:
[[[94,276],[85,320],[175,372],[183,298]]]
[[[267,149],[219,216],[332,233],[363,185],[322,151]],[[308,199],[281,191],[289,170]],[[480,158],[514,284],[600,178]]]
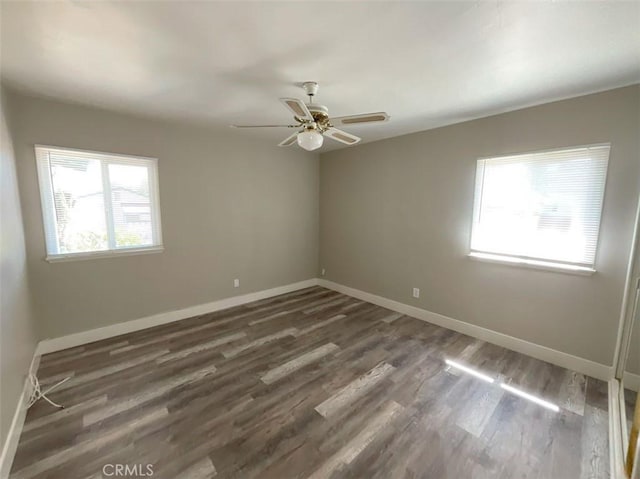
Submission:
[[[20,95],[15,150],[42,338],[273,288],[316,275],[319,160],[188,124]],[[44,260],[34,144],[158,158],[160,254]],[[240,288],[233,288],[233,279]]]

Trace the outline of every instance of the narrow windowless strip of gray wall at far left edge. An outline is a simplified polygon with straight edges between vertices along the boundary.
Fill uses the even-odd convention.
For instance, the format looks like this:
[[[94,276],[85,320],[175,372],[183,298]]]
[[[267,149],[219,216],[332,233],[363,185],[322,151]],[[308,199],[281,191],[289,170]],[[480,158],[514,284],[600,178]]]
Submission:
[[[0,91],[0,444],[4,446],[36,347],[22,214],[5,95]]]

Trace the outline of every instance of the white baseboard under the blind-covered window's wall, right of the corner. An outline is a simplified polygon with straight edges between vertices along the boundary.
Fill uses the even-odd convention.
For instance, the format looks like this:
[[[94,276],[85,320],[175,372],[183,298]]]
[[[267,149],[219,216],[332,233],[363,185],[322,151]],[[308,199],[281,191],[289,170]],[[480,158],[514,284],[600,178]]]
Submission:
[[[452,329],[459,333],[466,334],[467,336],[472,336],[489,343],[497,344],[498,346],[511,349],[512,351],[516,351],[518,353],[526,354],[527,356],[531,356],[542,361],[547,361],[549,363],[570,369],[572,371],[586,374],[587,376],[601,379],[603,381],[609,381],[609,379],[613,376],[613,369],[611,366],[596,363],[594,361],[590,361],[589,359],[584,359],[578,356],[563,353],[561,351],[556,351],[555,349],[531,343],[529,341],[525,341],[524,339],[519,339],[513,336],[498,333],[481,326],[475,326],[470,323],[465,323],[464,321],[449,318],[447,316],[443,316],[442,314],[432,313],[431,311],[427,311],[426,309],[410,306],[408,304],[400,303],[398,301],[367,293],[365,291],[360,291],[355,288],[350,288],[348,286],[334,283],[332,281],[319,279],[318,285],[328,289],[332,289],[334,291],[338,291],[340,293],[347,294],[349,296],[353,296],[369,303],[377,304],[378,306],[382,306],[384,308],[391,309],[402,314],[406,314],[407,316],[421,319],[428,323],[442,326],[443,328]]]

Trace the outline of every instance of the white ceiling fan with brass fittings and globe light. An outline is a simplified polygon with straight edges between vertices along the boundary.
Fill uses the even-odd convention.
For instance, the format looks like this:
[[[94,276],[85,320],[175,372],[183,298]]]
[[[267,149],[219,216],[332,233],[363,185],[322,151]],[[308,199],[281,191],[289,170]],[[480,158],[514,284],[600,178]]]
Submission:
[[[325,136],[345,145],[355,145],[361,138],[339,130],[334,125],[359,125],[377,123],[389,120],[389,115],[383,111],[364,113],[359,115],[329,117],[329,109],[324,105],[313,103],[313,97],[318,93],[316,82],[304,82],[302,89],[309,96],[309,103],[297,98],[280,98],[280,101],[293,113],[294,125],[231,125],[233,128],[295,128],[297,131],[278,146],[290,146],[298,143],[301,148],[312,151],[322,146]]]

